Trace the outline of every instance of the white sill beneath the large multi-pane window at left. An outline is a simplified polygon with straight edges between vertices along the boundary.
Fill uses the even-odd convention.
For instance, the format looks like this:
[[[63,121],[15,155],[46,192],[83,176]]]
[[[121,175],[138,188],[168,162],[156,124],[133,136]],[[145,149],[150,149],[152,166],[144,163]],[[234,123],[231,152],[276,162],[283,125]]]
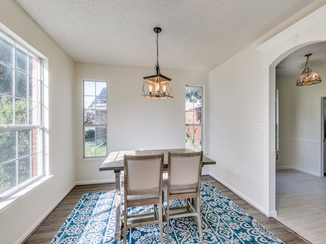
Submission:
[[[47,181],[49,178],[51,178],[52,175],[49,176],[43,176],[36,181],[34,181],[32,184],[24,187],[23,189],[19,190],[18,192],[0,200],[0,212],[5,210],[7,207],[9,207],[13,202],[24,196],[25,194],[28,194],[29,192],[33,191],[35,188],[37,188],[39,185],[43,184],[43,182]]]

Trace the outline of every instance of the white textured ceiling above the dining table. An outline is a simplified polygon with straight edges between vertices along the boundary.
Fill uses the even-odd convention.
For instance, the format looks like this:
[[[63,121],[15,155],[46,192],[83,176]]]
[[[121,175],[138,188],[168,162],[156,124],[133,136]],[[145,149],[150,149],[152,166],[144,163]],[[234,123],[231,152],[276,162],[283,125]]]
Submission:
[[[159,65],[164,73],[210,71],[313,0],[15,2],[75,62],[154,69],[153,28],[159,26]]]

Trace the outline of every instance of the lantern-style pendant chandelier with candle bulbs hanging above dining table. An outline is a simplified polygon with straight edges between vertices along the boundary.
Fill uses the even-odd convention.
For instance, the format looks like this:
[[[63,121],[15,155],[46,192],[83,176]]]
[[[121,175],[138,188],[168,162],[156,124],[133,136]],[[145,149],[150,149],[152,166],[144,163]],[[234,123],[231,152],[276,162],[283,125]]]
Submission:
[[[161,75],[159,72],[158,33],[161,32],[161,28],[155,27],[154,32],[156,33],[156,75],[144,77],[141,97],[154,100],[173,98],[171,79]]]

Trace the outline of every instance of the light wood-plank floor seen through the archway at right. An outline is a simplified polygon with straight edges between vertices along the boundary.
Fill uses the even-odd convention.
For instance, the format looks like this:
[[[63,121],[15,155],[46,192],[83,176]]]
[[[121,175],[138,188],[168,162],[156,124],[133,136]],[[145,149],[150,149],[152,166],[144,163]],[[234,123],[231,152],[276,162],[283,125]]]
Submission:
[[[326,243],[326,178],[276,171],[276,218],[314,244]]]

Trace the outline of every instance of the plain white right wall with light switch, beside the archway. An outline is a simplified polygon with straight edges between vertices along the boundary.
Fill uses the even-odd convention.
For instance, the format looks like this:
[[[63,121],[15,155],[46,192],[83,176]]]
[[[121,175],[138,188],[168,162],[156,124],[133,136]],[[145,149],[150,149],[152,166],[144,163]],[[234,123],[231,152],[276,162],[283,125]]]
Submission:
[[[261,54],[250,45],[209,73],[210,174],[264,212],[264,118]],[[267,127],[267,128],[266,128]],[[237,179],[239,173],[239,179]]]

